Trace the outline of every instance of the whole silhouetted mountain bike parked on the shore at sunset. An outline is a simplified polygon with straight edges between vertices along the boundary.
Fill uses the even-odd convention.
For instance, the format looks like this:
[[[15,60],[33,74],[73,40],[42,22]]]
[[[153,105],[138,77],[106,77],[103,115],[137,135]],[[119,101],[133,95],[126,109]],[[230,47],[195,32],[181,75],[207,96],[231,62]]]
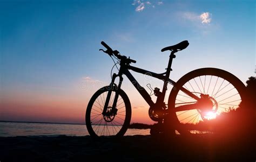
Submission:
[[[131,81],[133,86],[149,104],[149,117],[160,126],[153,127],[151,135],[177,130],[179,133],[192,133],[193,125],[200,121],[214,119],[214,116],[221,112],[236,109],[239,103],[245,98],[245,85],[233,74],[218,68],[200,68],[182,76],[177,82],[169,78],[172,71],[172,61],[176,58],[175,53],[184,50],[188,41],[181,41],[179,44],[165,47],[161,52],[170,51],[169,63],[164,73],[154,73],[138,67],[131,66],[135,60],[121,55],[117,50],[112,50],[104,41],[101,44],[111,58],[118,61],[114,66],[120,65],[118,74],[112,75],[109,86],[100,88],[91,97],[87,105],[85,122],[88,132],[93,137],[113,136],[121,137],[129,128],[131,121],[131,103],[124,90],[121,89],[123,74]],[[113,58],[112,58],[113,59]],[[114,60],[113,60],[114,61]],[[140,86],[129,70],[150,75],[153,78],[164,81],[163,89],[154,88],[154,95],[157,96],[156,103],[151,95]],[[119,77],[118,84],[115,83]],[[172,84],[168,103],[164,98],[167,85]],[[163,126],[164,125],[164,126]],[[164,128],[164,129],[163,129]]]

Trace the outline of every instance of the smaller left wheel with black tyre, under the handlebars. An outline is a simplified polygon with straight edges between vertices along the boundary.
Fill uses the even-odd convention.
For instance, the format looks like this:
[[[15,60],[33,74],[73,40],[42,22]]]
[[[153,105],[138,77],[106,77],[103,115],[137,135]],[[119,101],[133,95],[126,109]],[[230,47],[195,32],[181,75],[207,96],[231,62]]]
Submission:
[[[107,106],[107,113],[103,115],[102,112],[108,93],[111,93],[109,105]],[[121,137],[128,129],[131,121],[131,103],[125,92],[120,89],[118,91],[119,95],[116,109],[114,109],[115,112],[112,113],[112,105],[116,93],[117,88],[114,86],[112,86],[112,88],[111,86],[106,86],[96,91],[89,101],[85,114],[85,123],[92,137]]]

